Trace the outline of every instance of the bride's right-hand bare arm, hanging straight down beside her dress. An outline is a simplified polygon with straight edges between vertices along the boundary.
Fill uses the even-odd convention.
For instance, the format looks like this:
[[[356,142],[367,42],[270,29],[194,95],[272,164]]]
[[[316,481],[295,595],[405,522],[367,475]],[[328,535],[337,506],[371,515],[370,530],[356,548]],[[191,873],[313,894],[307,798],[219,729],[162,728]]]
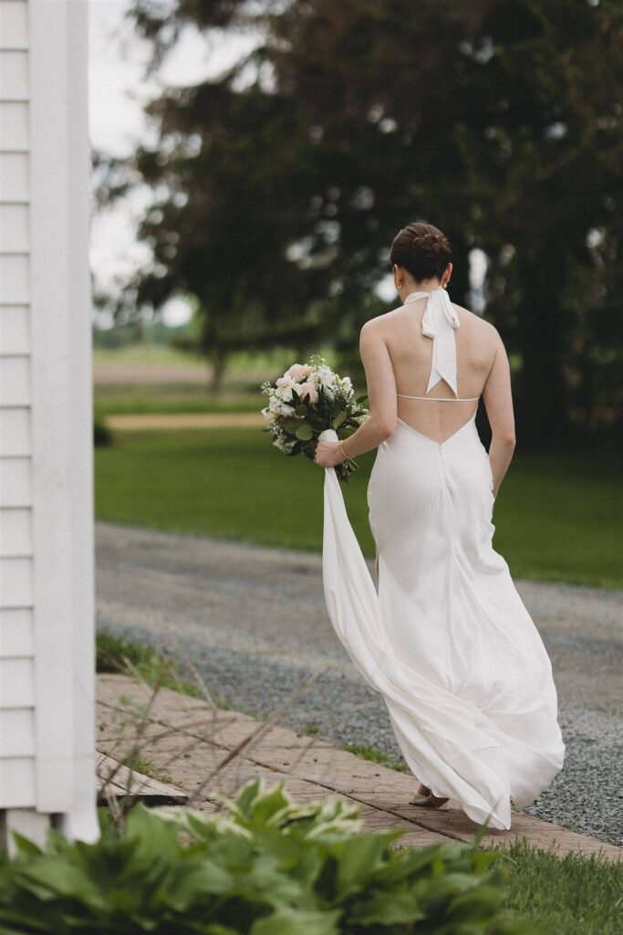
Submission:
[[[500,484],[503,482],[515,451],[515,415],[511,392],[511,368],[503,340],[497,331],[495,333],[497,346],[483,390],[483,399],[491,426],[488,460],[493,474],[493,496],[498,496]]]

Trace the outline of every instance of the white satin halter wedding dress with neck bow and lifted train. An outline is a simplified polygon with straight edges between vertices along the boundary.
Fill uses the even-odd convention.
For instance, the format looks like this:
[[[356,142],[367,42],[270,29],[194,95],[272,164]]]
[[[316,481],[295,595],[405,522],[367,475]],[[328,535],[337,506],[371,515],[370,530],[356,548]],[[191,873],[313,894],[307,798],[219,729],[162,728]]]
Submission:
[[[445,379],[456,395],[459,319],[441,288],[405,301],[422,295],[429,389]],[[565,746],[545,646],[492,546],[493,479],[474,420],[440,443],[399,419],[379,445],[368,485],[378,591],[325,471],[324,594],[419,782],[474,822],[510,828],[511,801],[521,808],[551,784]]]

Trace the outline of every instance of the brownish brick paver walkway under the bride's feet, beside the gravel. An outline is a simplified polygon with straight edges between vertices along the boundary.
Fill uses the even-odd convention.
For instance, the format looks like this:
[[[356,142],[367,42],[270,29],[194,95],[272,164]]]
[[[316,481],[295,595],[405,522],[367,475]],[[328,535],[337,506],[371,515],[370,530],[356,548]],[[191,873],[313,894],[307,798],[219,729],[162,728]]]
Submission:
[[[199,698],[166,688],[154,693],[135,679],[100,675],[97,712],[98,750],[120,759],[135,745],[158,776],[188,793],[196,808],[214,810],[219,792],[232,796],[249,778],[262,775],[268,785],[286,780],[297,800],[337,793],[360,803],[367,827],[404,830],[401,845],[472,841],[477,831],[456,804],[447,812],[409,805],[416,782],[407,774]],[[520,837],[560,856],[570,851],[613,860],[623,856],[623,848],[519,812],[511,830],[490,829],[481,846]]]

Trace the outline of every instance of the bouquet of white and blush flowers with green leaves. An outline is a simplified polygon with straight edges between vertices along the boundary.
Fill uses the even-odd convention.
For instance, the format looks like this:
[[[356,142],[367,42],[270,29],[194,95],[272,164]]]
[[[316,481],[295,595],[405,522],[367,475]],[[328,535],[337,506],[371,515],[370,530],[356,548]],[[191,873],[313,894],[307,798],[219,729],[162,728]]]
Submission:
[[[262,432],[270,432],[276,448],[289,457],[303,453],[313,461],[319,439],[347,439],[368,415],[363,407],[367,396],[355,399],[350,378],[334,373],[319,354],[312,354],[308,364],[292,364],[275,386],[264,381],[262,393],[268,396]],[[347,458],[335,473],[346,483],[357,469]]]

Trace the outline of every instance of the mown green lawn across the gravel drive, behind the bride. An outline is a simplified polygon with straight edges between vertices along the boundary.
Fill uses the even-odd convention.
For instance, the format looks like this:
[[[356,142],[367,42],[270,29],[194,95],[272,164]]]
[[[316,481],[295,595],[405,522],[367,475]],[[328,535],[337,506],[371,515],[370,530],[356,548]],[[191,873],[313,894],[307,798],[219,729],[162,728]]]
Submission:
[[[98,519],[320,551],[323,472],[277,452],[259,429],[119,433],[96,452]],[[366,485],[375,453],[344,488],[374,556]],[[623,587],[620,465],[516,453],[495,504],[495,548],[517,578]]]

